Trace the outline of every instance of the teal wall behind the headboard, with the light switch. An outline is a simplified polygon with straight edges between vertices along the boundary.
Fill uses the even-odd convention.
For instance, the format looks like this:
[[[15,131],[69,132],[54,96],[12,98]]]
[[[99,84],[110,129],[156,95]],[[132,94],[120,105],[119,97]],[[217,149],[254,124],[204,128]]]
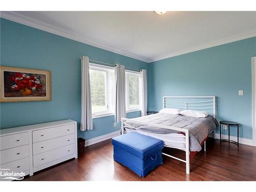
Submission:
[[[252,139],[253,56],[256,37],[150,63],[148,110],[160,110],[163,96],[215,95],[218,120],[241,123],[240,137]],[[237,135],[236,129],[231,135]]]

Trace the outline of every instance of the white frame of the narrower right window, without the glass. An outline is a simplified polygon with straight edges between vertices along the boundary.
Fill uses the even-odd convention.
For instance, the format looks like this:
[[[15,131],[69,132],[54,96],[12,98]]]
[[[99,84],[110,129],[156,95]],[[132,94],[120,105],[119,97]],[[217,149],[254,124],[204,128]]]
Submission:
[[[137,76],[139,77],[139,106],[130,108],[129,107],[129,75]],[[141,81],[141,75],[140,72],[125,70],[125,105],[126,105],[126,113],[129,112],[135,112],[135,111],[141,111],[141,105],[142,105],[142,81]]]

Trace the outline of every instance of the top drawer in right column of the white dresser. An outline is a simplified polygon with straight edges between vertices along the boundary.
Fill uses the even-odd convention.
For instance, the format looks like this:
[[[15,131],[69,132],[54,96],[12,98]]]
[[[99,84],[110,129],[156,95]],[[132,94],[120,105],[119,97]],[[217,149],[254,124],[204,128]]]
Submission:
[[[75,133],[75,125],[68,124],[49,129],[33,131],[33,143]]]

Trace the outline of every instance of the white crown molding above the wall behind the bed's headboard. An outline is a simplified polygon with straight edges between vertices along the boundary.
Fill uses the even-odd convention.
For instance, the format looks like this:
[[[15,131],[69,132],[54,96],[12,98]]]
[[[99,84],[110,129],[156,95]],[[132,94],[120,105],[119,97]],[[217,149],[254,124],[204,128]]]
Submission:
[[[199,51],[199,50],[203,50],[203,49],[207,49],[207,48],[211,48],[211,47],[216,47],[216,46],[220,46],[220,45],[224,45],[224,44],[228,44],[229,42],[234,42],[234,41],[238,41],[238,40],[243,40],[246,38],[250,38],[250,37],[255,37],[256,36],[256,30],[248,32],[248,33],[243,33],[240,35],[236,35],[236,36],[231,36],[228,38],[223,38],[217,41],[212,41],[209,42],[207,44],[204,45],[200,45],[200,46],[195,46],[189,49],[183,49],[180,51],[176,51],[173,53],[169,53],[169,54],[164,54],[162,56],[158,56],[158,57],[154,57],[152,59],[148,59],[146,60],[146,62],[155,62],[155,61],[159,61],[162,59],[166,59],[166,58],[170,58],[170,57],[175,57],[178,55],[183,55],[186,53],[191,53],[191,52],[195,52],[195,51]]]

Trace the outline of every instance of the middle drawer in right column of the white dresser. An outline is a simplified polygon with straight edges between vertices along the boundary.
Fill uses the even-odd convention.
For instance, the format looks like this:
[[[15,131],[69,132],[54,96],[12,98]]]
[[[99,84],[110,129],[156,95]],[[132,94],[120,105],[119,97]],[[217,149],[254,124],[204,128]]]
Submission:
[[[33,155],[54,150],[62,146],[75,143],[75,134],[33,143]]]

